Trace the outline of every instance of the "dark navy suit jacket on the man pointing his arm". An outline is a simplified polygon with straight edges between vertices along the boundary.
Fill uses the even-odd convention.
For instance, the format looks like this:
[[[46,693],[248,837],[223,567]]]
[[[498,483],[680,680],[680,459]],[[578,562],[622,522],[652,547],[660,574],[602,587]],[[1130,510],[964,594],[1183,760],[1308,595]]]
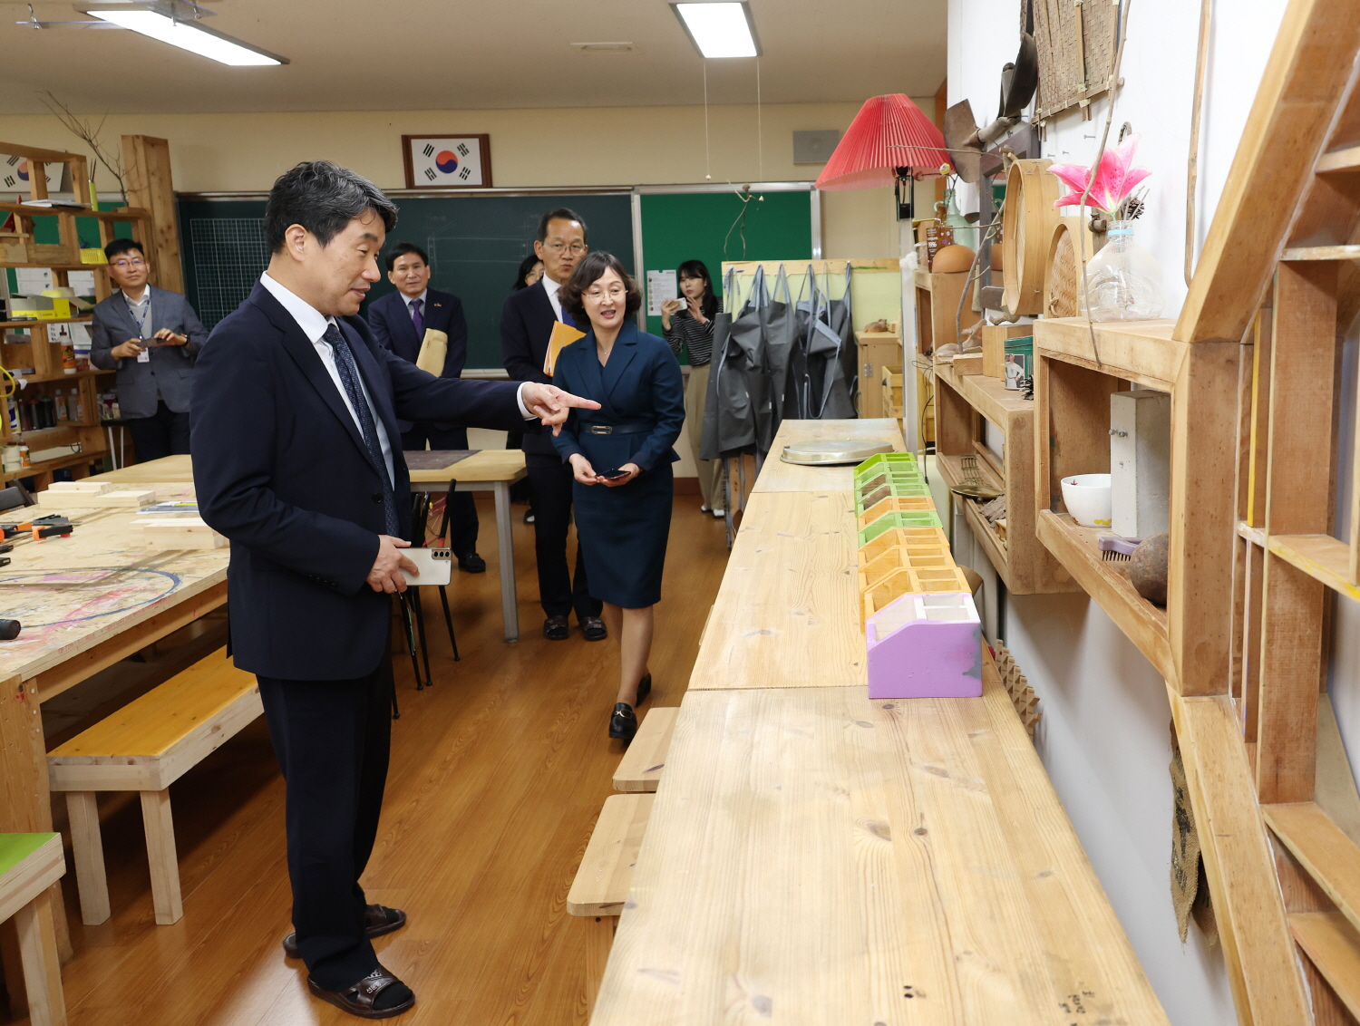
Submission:
[[[397,514],[411,481],[397,417],[517,429],[518,383],[435,378],[340,318],[392,443]],[[292,315],[256,284],[208,337],[193,376],[193,480],[231,539],[231,648],[242,670],[348,679],[388,655],[390,599],[366,583],[385,534],[382,478],[340,389]]]

